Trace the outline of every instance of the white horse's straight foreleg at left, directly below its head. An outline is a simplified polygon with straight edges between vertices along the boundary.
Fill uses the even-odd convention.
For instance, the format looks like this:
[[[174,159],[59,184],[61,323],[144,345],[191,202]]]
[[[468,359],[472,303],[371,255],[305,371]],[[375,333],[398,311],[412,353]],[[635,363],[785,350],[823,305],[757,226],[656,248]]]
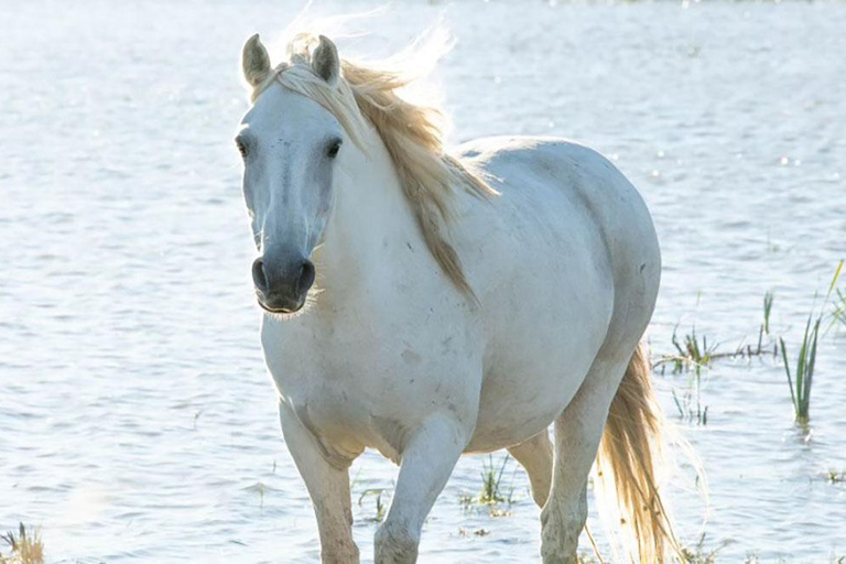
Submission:
[[[328,463],[317,440],[284,402],[279,403],[279,416],[288,449],[312,498],[321,535],[321,560],[324,564],[358,564],[347,468]],[[350,463],[346,463],[347,467]]]

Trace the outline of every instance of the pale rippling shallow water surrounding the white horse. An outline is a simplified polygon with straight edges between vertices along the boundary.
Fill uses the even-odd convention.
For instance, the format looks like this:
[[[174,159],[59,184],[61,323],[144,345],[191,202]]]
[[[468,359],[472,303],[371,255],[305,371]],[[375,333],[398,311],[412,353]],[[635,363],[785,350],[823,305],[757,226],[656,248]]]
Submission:
[[[409,2],[362,44],[401,45],[443,9]],[[42,525],[56,562],[315,561],[261,360],[231,147],[241,42],[276,34],[295,4],[0,10],[0,529]],[[753,339],[767,290],[795,351],[846,254],[846,4],[467,1],[446,21],[454,141],[577,139],[641,188],[665,264],[654,352],[671,351],[677,323],[722,350]],[[829,333],[810,438],[774,359],[714,366],[706,425],[677,417],[670,390],[686,376],[657,378],[707,470],[705,545],[725,543],[720,561],[846,554],[846,485],[824,478],[846,470],[844,366],[846,338]],[[512,463],[509,517],[463,511],[486,459],[459,463],[422,562],[538,560],[538,510]],[[368,453],[352,474],[354,500],[390,498],[390,463]],[[702,503],[674,494],[695,540]],[[366,561],[375,503],[355,503]]]

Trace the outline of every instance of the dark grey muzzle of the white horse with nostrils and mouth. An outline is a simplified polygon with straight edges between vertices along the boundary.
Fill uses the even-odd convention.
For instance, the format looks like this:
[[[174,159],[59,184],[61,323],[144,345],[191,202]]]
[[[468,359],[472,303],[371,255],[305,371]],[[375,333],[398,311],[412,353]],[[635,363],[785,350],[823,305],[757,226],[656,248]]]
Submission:
[[[314,264],[308,259],[276,263],[259,257],[252,263],[252,282],[259,305],[271,313],[296,313],[314,284]]]

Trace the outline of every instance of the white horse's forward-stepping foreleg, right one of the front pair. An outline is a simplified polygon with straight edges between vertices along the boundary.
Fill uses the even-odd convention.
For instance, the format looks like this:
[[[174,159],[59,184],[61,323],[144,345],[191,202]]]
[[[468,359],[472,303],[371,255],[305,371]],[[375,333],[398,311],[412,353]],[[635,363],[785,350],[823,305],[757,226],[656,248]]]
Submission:
[[[384,523],[376,533],[376,564],[413,564],[423,522],[449,479],[468,435],[457,422],[433,415],[413,432]]]

